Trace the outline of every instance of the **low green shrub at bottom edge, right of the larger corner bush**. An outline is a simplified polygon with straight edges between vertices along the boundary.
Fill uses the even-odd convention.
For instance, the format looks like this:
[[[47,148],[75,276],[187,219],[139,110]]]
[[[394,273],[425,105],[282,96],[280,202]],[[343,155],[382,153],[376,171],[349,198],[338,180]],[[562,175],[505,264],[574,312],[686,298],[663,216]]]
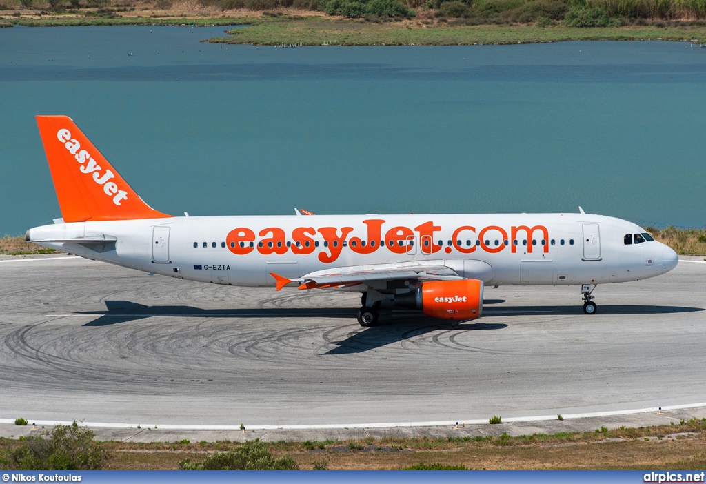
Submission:
[[[292,457],[275,459],[270,446],[260,440],[245,442],[228,452],[213,452],[203,462],[184,459],[179,462],[183,471],[297,471],[299,466]]]

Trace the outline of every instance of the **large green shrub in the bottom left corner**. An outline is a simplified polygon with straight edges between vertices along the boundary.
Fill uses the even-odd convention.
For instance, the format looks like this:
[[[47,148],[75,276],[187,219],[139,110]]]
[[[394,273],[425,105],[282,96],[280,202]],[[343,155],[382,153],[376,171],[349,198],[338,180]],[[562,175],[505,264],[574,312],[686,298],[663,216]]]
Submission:
[[[7,452],[8,468],[22,471],[95,471],[108,457],[95,434],[76,421],[56,425],[41,437],[27,437],[23,444]]]

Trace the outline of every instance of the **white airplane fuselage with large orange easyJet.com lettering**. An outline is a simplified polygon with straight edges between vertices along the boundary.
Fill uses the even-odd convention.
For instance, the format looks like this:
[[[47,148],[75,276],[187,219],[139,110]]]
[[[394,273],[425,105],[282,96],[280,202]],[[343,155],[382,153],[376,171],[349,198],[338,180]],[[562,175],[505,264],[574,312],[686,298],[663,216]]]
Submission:
[[[136,270],[234,286],[274,286],[271,272],[293,279],[430,263],[490,285],[568,285],[673,269],[676,253],[664,244],[625,243],[643,233],[590,214],[369,214],[74,222],[30,229],[28,238]],[[112,242],[80,242],[99,236]]]

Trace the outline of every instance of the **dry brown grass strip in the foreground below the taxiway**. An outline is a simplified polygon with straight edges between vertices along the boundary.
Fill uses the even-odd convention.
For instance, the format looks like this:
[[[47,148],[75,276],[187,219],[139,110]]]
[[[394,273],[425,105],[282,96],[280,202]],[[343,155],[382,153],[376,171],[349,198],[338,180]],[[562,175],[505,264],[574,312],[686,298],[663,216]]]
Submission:
[[[706,419],[705,419],[706,420]],[[4,449],[18,440],[0,439]],[[104,442],[109,469],[176,469],[179,461],[201,461],[232,442]],[[416,464],[462,464],[474,469],[685,469],[706,467],[706,421],[681,421],[650,428],[597,429],[519,437],[445,437],[275,442],[273,456],[292,457],[299,468],[400,469]],[[1,467],[1,464],[0,464]]]

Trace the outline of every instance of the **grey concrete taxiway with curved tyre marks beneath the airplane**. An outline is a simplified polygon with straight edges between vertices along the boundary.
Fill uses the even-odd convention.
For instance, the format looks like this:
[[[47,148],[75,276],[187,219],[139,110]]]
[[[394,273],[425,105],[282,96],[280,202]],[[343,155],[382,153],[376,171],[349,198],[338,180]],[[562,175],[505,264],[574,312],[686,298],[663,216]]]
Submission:
[[[706,264],[691,259],[599,286],[596,315],[578,286],[500,287],[476,321],[393,310],[362,328],[358,294],[0,258],[0,418],[342,429],[698,404]]]

